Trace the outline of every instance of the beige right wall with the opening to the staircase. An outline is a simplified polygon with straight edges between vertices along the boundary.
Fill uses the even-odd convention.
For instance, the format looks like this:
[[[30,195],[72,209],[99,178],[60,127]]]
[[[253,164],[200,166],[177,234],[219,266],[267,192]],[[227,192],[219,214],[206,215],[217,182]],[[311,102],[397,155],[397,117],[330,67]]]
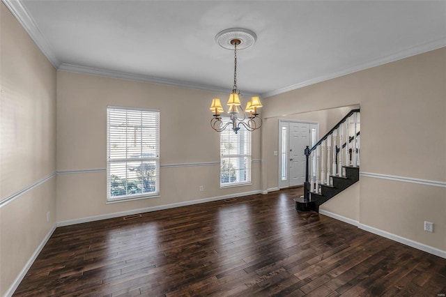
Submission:
[[[351,191],[342,199],[357,199],[359,216],[342,213],[343,202],[330,211],[338,208],[338,215],[365,226],[446,251],[445,82],[442,48],[266,98],[263,114],[360,104],[360,171],[439,181],[443,187],[362,176],[359,196]],[[263,130],[263,137],[277,139],[269,120]],[[271,148],[263,148],[263,162],[277,163]],[[425,220],[435,224],[433,233],[423,230]]]

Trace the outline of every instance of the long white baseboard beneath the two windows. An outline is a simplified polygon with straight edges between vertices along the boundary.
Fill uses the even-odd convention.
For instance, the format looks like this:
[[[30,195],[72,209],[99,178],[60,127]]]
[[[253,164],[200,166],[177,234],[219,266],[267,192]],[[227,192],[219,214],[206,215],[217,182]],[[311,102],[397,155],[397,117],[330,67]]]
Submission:
[[[94,215],[94,216],[87,217],[87,218],[80,218],[80,219],[75,219],[75,220],[66,220],[66,221],[57,222],[57,227],[68,226],[71,224],[81,224],[84,222],[106,220],[106,219],[111,219],[111,218],[118,218],[118,217],[122,217],[124,215],[134,215],[137,213],[149,213],[151,211],[162,211],[163,209],[169,209],[169,208],[174,208],[174,207],[188,206],[188,205],[193,205],[193,204],[201,204],[201,203],[210,202],[210,201],[224,200],[224,199],[229,199],[229,198],[243,197],[243,196],[256,195],[256,194],[262,194],[262,191],[257,190],[257,191],[236,193],[236,194],[230,194],[230,195],[223,195],[223,196],[218,196],[218,197],[210,197],[210,198],[205,198],[205,199],[197,199],[197,200],[191,200],[191,201],[178,202],[178,203],[173,203],[173,204],[165,204],[165,205],[160,205],[160,206],[152,206],[152,207],[147,207],[147,208],[138,208],[138,209],[133,209],[132,211],[121,211],[119,213],[107,213],[105,215]]]

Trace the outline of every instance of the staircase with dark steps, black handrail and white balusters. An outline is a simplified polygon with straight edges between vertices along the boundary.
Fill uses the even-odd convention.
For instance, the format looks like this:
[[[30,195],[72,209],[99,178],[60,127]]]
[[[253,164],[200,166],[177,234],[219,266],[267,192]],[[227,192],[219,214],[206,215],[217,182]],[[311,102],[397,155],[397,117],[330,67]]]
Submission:
[[[360,109],[353,109],[312,148],[305,148],[304,195],[295,198],[296,211],[319,206],[360,179]],[[344,137],[345,135],[345,137]]]

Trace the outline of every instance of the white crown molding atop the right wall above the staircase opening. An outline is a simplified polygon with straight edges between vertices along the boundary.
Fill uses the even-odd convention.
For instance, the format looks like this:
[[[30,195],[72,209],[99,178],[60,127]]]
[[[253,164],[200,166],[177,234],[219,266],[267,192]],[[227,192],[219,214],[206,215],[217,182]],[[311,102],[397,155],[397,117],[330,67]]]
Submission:
[[[373,68],[376,66],[380,66],[385,63],[390,63],[390,62],[398,61],[401,59],[405,59],[405,58],[408,58],[409,56],[415,56],[417,54],[422,54],[424,52],[430,52],[431,50],[437,50],[437,49],[439,49],[441,47],[445,47],[445,46],[446,46],[446,36],[443,36],[442,38],[440,38],[438,40],[433,40],[429,43],[423,43],[422,45],[410,47],[406,50],[401,50],[394,54],[390,54],[388,56],[383,56],[380,59],[376,59],[376,60],[369,61],[366,63],[361,63],[361,64],[355,65],[353,67],[337,71],[335,73],[330,73],[328,75],[322,75],[320,77],[315,77],[314,79],[309,79],[305,82],[300,82],[299,84],[292,84],[291,86],[285,86],[284,88],[280,88],[280,89],[276,89],[276,90],[269,91],[266,93],[262,93],[261,97],[267,98],[267,97],[279,95],[281,93],[286,93],[289,91],[293,91],[295,89],[303,88],[304,86],[310,86],[312,84],[317,84],[318,82],[325,82],[326,80],[329,80],[329,79],[341,77],[341,76],[348,75],[351,73],[356,73],[358,71],[366,70],[366,69]]]

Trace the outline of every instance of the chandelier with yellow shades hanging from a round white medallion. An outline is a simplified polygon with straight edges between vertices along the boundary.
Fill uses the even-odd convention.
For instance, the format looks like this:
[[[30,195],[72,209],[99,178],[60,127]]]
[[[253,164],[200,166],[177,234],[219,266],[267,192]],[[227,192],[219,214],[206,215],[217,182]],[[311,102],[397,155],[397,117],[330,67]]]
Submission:
[[[227,29],[215,36],[215,41],[221,47],[234,51],[234,84],[232,93],[226,103],[228,105],[229,121],[226,123],[222,121],[220,113],[224,112],[224,109],[219,98],[214,98],[210,105],[210,110],[213,112],[210,126],[217,132],[222,132],[230,127],[237,134],[241,126],[248,131],[254,131],[262,125],[262,119],[257,111],[258,108],[262,107],[259,96],[252,97],[243,109],[239,98],[240,91],[237,89],[237,50],[243,50],[254,45],[256,38],[256,34],[247,29]]]

